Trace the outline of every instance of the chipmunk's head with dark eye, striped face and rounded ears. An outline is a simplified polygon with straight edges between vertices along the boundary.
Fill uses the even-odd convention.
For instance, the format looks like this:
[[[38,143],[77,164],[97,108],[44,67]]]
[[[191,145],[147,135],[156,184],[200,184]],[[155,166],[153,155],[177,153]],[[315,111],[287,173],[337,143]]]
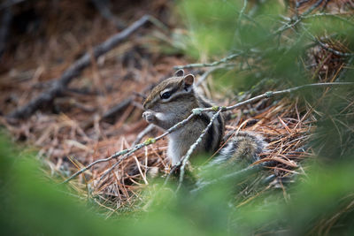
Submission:
[[[175,72],[173,77],[151,90],[143,103],[144,109],[162,113],[173,112],[173,109],[175,112],[183,112],[183,107],[188,109],[189,103],[195,101],[193,83],[193,74],[184,75],[183,70]]]

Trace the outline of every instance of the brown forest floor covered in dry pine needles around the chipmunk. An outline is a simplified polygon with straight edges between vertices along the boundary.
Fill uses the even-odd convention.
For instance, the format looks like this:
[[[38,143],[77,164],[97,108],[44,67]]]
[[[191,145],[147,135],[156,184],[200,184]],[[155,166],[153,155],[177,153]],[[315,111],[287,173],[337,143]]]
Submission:
[[[123,22],[120,29],[116,21],[104,18],[99,7],[88,1],[58,1],[57,8],[49,3],[38,1],[13,8],[9,49],[4,51],[0,65],[0,121],[14,141],[38,152],[50,176],[65,180],[87,164],[163,133],[153,129],[137,140],[148,126],[142,119],[143,97],[158,81],[173,74],[173,66],[193,61],[173,49],[171,34],[187,33],[171,14],[169,1],[119,1],[112,11]],[[119,10],[123,5],[124,11]],[[145,14],[164,22],[169,32],[153,24],[140,27],[117,47],[98,58],[93,56],[96,45]],[[55,86],[55,81],[84,52],[92,56],[90,65],[52,103],[41,104],[33,115],[22,119],[4,117]],[[332,74],[324,76],[322,82],[334,81],[342,62],[335,60],[335,55],[324,60],[320,50],[313,54],[313,63],[321,63],[319,74]],[[198,80],[205,71],[191,72]],[[222,92],[212,88],[211,75],[201,86],[204,94],[220,105],[237,102],[229,88]],[[243,99],[260,92],[250,92]],[[317,120],[315,111],[311,104],[299,106],[297,99],[288,97],[261,100],[234,110],[227,121],[227,132],[260,133],[269,143],[259,161],[275,162],[264,176],[274,176],[265,189],[282,188],[287,197],[281,179],[305,172],[300,161],[312,153],[306,143]],[[102,180],[104,171],[116,160],[96,164],[73,179],[70,187],[79,195],[96,196],[95,201],[112,213],[134,207],[141,201],[140,189],[149,185],[147,172],[158,167],[163,178],[170,171],[165,158],[166,141],[136,151]],[[245,202],[252,197],[246,196]],[[107,201],[113,203],[103,203]]]

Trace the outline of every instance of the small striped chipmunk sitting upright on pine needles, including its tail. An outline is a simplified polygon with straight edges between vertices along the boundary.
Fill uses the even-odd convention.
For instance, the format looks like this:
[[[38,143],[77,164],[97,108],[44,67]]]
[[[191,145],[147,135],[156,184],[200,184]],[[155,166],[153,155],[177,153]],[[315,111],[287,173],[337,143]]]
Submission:
[[[162,81],[150,92],[143,103],[146,110],[142,117],[163,129],[169,129],[183,119],[189,117],[195,108],[212,107],[212,103],[199,95],[194,88],[193,74],[184,74],[183,70],[175,72],[174,76]],[[210,123],[213,112],[202,112],[194,116],[185,126],[170,133],[167,157],[173,165],[178,164],[187,153],[190,145],[200,136]],[[197,145],[193,155],[203,152],[215,152],[223,141],[225,122],[222,113],[214,120],[211,128],[205,133],[203,140]],[[240,132],[224,148],[211,164],[227,164],[233,156],[255,161],[258,154],[265,148],[266,142],[253,133]]]

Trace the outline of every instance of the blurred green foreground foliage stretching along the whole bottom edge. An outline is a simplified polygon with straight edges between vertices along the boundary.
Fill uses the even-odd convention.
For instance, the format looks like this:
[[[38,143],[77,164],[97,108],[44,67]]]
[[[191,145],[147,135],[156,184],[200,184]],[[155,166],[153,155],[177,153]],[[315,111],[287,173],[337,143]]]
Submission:
[[[304,235],[322,231],[354,232],[354,161],[310,164],[298,184],[269,190],[251,202],[232,197],[230,179],[196,194],[182,189],[147,188],[148,211],[104,219],[67,194],[40,171],[35,156],[21,155],[0,139],[0,226],[3,235]],[[149,201],[147,201],[149,202]],[[243,202],[243,204],[240,204]],[[345,224],[345,225],[343,225]],[[330,227],[336,225],[335,227]]]

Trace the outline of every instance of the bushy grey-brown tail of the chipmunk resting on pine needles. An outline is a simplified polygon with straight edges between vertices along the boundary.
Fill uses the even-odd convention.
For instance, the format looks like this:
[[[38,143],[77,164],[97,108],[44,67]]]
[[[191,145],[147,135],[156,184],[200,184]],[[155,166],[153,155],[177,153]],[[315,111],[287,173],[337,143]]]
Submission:
[[[256,134],[250,132],[240,132],[227,141],[224,148],[220,150],[211,165],[229,166],[234,164],[251,164],[259,159],[258,155],[265,151],[266,141]]]

